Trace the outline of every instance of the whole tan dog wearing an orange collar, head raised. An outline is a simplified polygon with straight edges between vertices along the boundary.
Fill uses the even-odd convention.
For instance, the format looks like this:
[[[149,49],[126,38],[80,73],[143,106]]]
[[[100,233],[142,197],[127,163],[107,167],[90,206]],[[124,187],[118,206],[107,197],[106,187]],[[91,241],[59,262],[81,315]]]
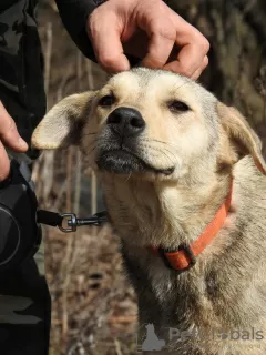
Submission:
[[[32,143],[79,144],[99,174],[141,339],[150,324],[165,354],[266,354],[266,168],[235,109],[135,69],[62,100]]]

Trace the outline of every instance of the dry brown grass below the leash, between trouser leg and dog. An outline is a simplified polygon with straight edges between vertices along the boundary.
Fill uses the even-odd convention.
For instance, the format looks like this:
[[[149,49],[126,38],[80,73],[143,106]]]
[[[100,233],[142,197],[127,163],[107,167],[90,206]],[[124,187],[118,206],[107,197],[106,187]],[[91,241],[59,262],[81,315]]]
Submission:
[[[50,230],[45,241],[53,303],[51,354],[135,354],[135,296],[110,227],[68,235]]]

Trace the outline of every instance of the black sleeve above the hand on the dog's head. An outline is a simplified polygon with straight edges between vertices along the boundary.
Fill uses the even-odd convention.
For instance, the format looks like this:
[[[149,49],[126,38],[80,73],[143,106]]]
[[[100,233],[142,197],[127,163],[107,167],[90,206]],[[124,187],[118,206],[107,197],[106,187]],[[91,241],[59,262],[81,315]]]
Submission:
[[[104,0],[55,0],[65,29],[82,53],[96,61],[85,31],[88,17]]]

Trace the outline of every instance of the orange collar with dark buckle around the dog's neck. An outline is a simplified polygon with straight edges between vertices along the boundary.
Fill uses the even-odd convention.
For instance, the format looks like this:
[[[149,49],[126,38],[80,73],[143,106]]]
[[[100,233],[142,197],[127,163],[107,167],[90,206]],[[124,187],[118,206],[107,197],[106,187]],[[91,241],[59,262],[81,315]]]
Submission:
[[[192,244],[180,244],[178,247],[174,251],[151,246],[152,251],[155,254],[161,255],[167,266],[176,271],[183,272],[194,266],[196,263],[196,256],[201,254],[208,244],[212,243],[218,231],[224,225],[231,206],[232,193],[233,179],[231,180],[231,190],[225,202],[215,214],[213,221],[205,227],[203,233]]]

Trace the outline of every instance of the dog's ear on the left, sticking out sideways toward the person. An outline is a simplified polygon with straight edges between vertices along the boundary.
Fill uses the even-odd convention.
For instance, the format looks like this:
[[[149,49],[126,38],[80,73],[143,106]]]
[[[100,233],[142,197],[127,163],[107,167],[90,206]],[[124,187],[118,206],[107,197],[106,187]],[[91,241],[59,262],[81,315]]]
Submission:
[[[95,94],[96,91],[88,91],[70,95],[57,103],[34,130],[32,146],[44,150],[79,144]]]

